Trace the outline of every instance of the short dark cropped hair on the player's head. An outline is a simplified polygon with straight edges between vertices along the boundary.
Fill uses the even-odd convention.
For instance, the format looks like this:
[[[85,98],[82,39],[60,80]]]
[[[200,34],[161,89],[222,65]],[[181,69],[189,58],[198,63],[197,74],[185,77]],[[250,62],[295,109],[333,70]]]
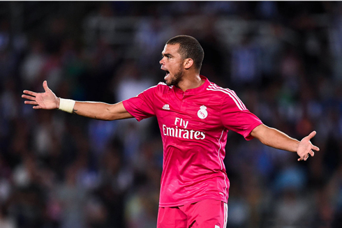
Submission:
[[[166,42],[167,45],[176,45],[177,43],[179,43],[178,52],[181,57],[183,59],[193,59],[195,68],[200,71],[203,58],[205,57],[205,52],[203,51],[203,48],[198,40],[192,36],[179,35],[170,38],[170,40]]]

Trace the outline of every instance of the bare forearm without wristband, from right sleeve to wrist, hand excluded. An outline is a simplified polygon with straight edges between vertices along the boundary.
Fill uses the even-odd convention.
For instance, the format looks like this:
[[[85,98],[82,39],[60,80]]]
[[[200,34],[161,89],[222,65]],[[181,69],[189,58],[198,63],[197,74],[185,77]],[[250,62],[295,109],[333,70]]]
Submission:
[[[285,133],[265,125],[255,128],[255,130],[251,132],[251,135],[258,138],[262,144],[272,146],[276,149],[291,152],[296,152],[298,149],[299,141],[297,139],[293,139]]]

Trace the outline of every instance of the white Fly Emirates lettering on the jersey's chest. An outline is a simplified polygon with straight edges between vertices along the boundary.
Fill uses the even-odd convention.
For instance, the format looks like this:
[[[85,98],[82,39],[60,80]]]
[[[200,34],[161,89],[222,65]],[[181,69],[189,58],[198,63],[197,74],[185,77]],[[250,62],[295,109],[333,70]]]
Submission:
[[[182,139],[205,139],[205,132],[198,130],[188,130],[189,121],[184,121],[181,118],[174,119],[175,128],[168,128],[163,124],[163,134],[166,136],[178,137]],[[179,127],[179,128],[178,128]]]

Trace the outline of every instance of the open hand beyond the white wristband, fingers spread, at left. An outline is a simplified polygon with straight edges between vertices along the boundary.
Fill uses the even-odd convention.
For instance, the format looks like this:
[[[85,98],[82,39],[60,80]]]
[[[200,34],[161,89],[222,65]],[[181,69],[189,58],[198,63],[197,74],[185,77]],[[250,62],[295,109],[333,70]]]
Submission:
[[[32,91],[24,90],[22,98],[27,100],[24,101],[27,105],[34,105],[34,109],[58,109],[59,98],[52,92],[47,86],[46,80],[43,82],[43,88],[45,93],[35,93]]]

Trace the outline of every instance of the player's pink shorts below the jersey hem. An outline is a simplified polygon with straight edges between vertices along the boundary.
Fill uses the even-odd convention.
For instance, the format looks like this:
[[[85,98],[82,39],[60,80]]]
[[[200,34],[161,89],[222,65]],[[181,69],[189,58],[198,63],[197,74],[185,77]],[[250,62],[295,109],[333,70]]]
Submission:
[[[174,207],[159,207],[157,228],[225,228],[228,205],[214,199]]]

